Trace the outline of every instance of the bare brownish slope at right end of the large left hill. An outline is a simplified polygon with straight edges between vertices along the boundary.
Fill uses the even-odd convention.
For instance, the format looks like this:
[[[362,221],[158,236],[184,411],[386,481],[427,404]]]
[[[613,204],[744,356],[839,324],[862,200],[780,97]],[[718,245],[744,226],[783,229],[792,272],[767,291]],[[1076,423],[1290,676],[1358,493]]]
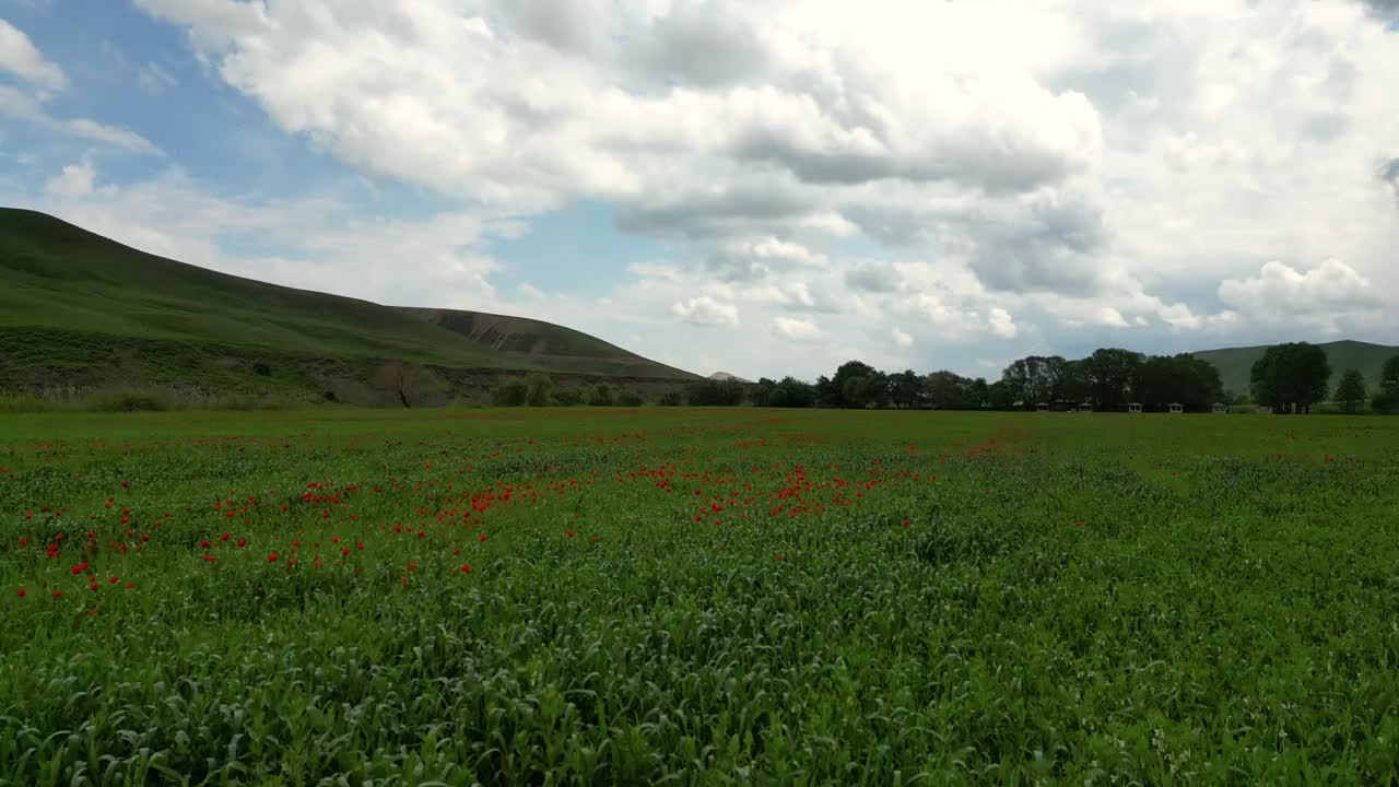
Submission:
[[[520,364],[558,371],[694,379],[695,375],[644,358],[572,328],[526,316],[481,311],[400,307],[402,312],[469,337]]]

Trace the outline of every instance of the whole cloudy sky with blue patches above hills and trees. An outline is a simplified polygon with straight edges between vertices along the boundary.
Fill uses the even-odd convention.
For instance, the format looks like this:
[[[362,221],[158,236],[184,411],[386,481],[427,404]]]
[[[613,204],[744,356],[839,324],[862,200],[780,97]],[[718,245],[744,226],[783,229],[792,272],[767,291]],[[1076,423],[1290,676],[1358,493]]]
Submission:
[[[690,371],[1399,343],[1395,0],[0,0],[0,204]]]

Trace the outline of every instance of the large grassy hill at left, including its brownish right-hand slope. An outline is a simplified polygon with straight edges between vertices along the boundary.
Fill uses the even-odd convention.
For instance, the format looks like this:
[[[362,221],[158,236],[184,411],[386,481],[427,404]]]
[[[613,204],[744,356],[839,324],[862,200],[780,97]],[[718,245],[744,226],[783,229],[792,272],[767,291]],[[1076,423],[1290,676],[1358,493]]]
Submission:
[[[0,209],[0,388],[305,388],[316,382],[308,381],[313,370],[330,367],[364,382],[376,360],[694,378],[547,322],[280,287],[150,255],[42,213]],[[263,379],[249,378],[253,368]]]

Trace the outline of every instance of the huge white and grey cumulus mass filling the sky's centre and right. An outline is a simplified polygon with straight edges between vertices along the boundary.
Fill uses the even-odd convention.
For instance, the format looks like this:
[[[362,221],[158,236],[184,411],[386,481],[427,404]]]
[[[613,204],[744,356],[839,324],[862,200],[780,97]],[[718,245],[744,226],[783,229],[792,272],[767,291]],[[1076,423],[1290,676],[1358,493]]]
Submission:
[[[741,308],[774,325],[736,350],[754,364],[788,340],[778,318],[820,315],[858,337],[841,351],[891,363],[912,347],[901,335],[949,339],[967,370],[978,343],[999,358],[1007,340],[1254,337],[1300,308],[1288,297],[1353,286],[1335,270],[1297,284],[1311,260],[1399,290],[1399,164],[1375,165],[1399,139],[1399,48],[1374,13],[1388,0],[136,1],[367,175],[469,214],[607,203],[670,256],[632,270],[603,316],[659,337]],[[0,112],[18,111],[0,95]],[[1266,259],[1291,274],[1252,276]],[[1326,307],[1374,311],[1347,308]],[[698,344],[677,351],[746,377],[824,363],[813,344],[776,350],[800,370],[743,368]]]

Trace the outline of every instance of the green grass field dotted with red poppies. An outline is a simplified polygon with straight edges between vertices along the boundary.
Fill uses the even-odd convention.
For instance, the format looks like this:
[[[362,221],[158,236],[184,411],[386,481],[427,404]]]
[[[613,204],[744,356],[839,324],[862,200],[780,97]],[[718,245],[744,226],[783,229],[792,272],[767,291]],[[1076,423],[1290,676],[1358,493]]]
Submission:
[[[0,420],[3,784],[1386,784],[1399,419]]]

